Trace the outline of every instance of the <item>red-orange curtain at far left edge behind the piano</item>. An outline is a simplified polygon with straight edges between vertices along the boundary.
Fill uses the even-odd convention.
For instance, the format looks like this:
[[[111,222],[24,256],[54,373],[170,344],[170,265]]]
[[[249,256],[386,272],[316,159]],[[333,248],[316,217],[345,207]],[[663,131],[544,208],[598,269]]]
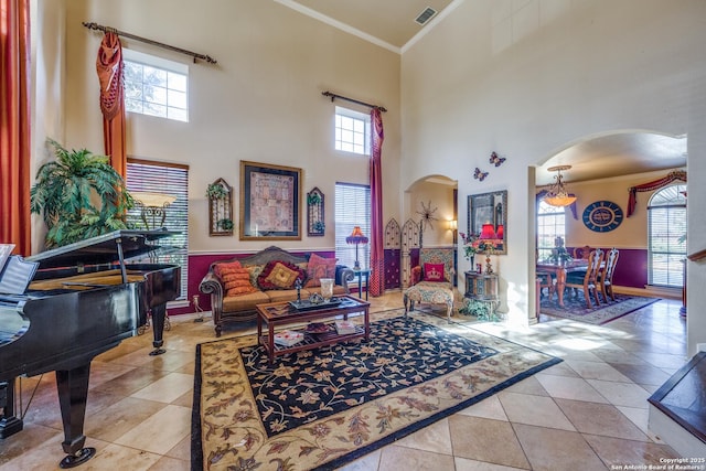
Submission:
[[[0,0],[0,244],[32,250],[30,0]]]

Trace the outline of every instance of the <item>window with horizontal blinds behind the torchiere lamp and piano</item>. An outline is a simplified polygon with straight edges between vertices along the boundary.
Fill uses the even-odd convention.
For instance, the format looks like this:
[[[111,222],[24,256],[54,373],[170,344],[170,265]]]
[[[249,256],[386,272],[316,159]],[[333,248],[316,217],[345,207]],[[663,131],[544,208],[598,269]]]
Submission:
[[[157,243],[176,249],[160,255],[156,259],[151,259],[150,263],[181,266],[181,296],[179,299],[186,299],[189,286],[189,167],[128,159],[126,180],[130,192],[145,191],[176,196],[176,200],[167,207],[164,226],[179,234],[161,238]],[[147,228],[142,222],[141,213],[139,206],[128,213],[128,223],[138,229]],[[149,222],[150,220],[148,220]],[[150,226],[149,228],[154,227]]]

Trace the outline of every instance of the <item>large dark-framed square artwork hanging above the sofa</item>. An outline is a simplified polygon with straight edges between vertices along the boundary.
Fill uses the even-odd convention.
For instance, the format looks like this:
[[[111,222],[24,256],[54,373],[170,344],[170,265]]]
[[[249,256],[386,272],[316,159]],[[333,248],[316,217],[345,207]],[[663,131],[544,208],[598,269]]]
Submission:
[[[301,240],[301,169],[240,161],[240,240]]]

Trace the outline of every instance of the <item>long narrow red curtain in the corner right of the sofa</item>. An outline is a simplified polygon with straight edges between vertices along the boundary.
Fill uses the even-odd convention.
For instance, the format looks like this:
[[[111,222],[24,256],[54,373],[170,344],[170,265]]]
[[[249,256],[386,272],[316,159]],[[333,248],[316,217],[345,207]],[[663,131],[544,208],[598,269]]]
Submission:
[[[372,147],[371,156],[371,279],[367,287],[371,296],[385,292],[385,251],[383,249],[383,117],[379,108],[371,110]]]

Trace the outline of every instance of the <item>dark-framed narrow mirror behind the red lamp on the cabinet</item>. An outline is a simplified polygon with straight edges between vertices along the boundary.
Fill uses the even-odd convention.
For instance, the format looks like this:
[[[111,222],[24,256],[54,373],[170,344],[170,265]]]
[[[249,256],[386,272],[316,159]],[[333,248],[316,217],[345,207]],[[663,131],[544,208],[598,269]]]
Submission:
[[[468,234],[483,234],[481,238],[493,239],[495,254],[507,254],[507,190],[468,196]]]

